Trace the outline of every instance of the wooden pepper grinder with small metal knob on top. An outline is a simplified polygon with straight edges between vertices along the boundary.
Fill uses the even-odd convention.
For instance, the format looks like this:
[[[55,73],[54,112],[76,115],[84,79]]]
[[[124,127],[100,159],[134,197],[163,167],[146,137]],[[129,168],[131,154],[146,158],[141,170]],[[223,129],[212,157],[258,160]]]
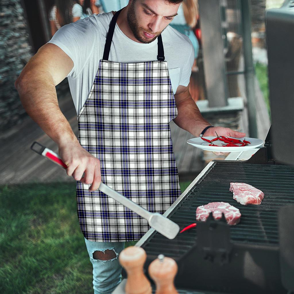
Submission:
[[[164,255],[158,255],[158,258],[153,260],[148,268],[150,277],[156,284],[156,294],[178,294],[173,280],[178,272],[176,262]]]

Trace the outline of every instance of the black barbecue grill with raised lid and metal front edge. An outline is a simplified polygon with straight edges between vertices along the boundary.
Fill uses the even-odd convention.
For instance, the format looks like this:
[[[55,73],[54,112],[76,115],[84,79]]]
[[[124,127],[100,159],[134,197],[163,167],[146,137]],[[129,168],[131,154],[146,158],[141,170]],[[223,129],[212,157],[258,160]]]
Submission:
[[[294,1],[288,1],[267,15],[268,44],[275,50],[268,51],[274,107],[265,146],[248,161],[210,162],[164,213],[182,229],[195,223],[198,206],[223,201],[240,210],[240,223],[229,226],[224,217],[216,221],[210,216],[173,240],[151,229],[136,244],[147,253],[146,275],[159,254],[176,260],[175,285],[180,294],[294,293],[294,166],[290,165],[294,164],[294,153],[293,147],[281,145],[289,143],[286,138],[293,136],[294,125],[294,96],[289,87],[294,76],[294,35],[289,34],[294,28],[293,6]],[[282,49],[289,49],[290,54],[283,54]],[[285,63],[289,64],[288,77],[280,66]],[[282,92],[287,95],[280,95]],[[278,120],[279,116],[283,117]],[[285,119],[289,117],[290,126]],[[261,205],[237,203],[229,191],[230,182],[248,183],[263,191]]]

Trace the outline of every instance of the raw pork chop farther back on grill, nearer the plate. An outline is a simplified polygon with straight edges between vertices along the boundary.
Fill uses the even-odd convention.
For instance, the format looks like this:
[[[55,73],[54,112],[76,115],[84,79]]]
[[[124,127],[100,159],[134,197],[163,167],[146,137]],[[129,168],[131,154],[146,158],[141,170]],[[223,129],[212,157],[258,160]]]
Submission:
[[[230,191],[233,199],[242,205],[260,204],[263,200],[263,192],[245,183],[230,183]]]

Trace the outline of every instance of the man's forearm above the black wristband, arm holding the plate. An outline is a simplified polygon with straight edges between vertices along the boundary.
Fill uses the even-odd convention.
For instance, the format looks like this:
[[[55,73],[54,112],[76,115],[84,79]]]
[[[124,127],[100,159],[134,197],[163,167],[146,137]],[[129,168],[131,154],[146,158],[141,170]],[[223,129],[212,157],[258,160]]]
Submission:
[[[209,126],[201,115],[199,108],[189,95],[181,102],[177,103],[178,116],[173,120],[180,128],[191,133],[193,136],[199,137],[201,131]]]

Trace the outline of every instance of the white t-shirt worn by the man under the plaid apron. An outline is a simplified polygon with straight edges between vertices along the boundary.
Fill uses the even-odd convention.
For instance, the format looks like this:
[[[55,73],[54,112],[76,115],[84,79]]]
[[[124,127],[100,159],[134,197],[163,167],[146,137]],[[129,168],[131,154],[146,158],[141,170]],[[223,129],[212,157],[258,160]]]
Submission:
[[[49,43],[59,46],[74,62],[68,74],[69,88],[77,114],[86,102],[93,85],[99,60],[103,57],[106,35],[113,14],[93,14],[59,29]],[[170,26],[161,33],[165,60],[173,93],[178,85],[188,86],[194,62],[189,38]],[[157,60],[157,39],[142,44],[129,39],[116,24],[109,61],[134,63]]]

